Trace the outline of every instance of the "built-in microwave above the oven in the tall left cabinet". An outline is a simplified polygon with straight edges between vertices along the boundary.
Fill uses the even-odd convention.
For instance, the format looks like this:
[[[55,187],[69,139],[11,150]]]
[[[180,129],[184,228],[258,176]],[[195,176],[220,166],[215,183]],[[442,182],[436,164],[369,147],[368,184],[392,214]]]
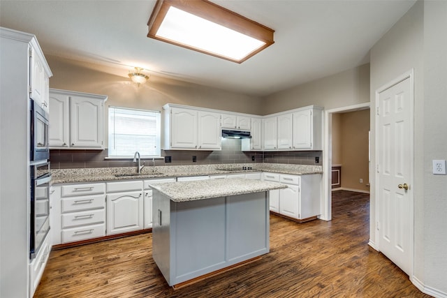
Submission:
[[[31,99],[31,127],[30,127],[30,158],[31,162],[47,161],[50,158],[49,148],[49,117],[47,112]]]

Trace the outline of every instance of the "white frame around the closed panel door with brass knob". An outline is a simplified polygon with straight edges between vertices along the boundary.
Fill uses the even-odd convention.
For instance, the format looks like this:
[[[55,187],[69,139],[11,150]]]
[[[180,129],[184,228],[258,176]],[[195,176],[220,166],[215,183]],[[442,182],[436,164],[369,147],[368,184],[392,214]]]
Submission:
[[[414,69],[411,68],[411,70],[407,71],[406,73],[396,77],[394,80],[391,80],[390,82],[383,84],[381,87],[376,89],[375,91],[375,108],[379,107],[379,94],[386,89],[389,89],[390,87],[395,86],[396,84],[399,84],[400,82],[409,79],[410,80],[410,100],[409,100],[409,110],[410,110],[410,189],[409,192],[409,200],[410,200],[410,214],[409,214],[409,230],[410,230],[410,238],[409,238],[409,251],[410,251],[410,271],[409,271],[409,278],[412,279],[413,271],[414,271]],[[375,237],[376,237],[376,243],[375,243],[375,249],[377,251],[380,251],[380,237],[379,237],[379,229],[377,228],[377,224],[379,224],[379,214],[380,214],[380,207],[381,207],[381,198],[378,195],[379,194],[379,173],[376,171],[376,168],[379,166],[379,161],[377,152],[379,152],[379,137],[378,137],[378,131],[379,131],[379,121],[378,121],[378,115],[375,112],[375,148],[374,148],[374,193],[375,193],[375,201],[376,201],[376,218],[370,218],[370,221],[373,221],[376,223],[376,231],[375,231]]]

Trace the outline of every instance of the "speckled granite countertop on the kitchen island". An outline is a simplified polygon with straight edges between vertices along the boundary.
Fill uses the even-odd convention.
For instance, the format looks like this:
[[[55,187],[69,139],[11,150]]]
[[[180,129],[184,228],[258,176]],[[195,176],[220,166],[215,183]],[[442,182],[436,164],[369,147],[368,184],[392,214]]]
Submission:
[[[167,195],[173,202],[204,200],[287,188],[285,184],[276,182],[241,178],[179,181],[159,184],[154,182],[149,184],[149,186]]]

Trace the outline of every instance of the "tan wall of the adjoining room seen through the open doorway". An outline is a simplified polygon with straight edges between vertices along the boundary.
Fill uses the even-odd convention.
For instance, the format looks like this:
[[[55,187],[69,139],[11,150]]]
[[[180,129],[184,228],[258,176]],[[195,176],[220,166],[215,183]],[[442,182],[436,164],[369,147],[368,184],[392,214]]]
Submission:
[[[369,191],[369,186],[367,186],[369,177],[369,109],[339,115],[341,143],[340,155],[342,157],[342,188]],[[332,132],[333,131],[332,126]],[[363,180],[362,183],[360,183],[360,179]]]

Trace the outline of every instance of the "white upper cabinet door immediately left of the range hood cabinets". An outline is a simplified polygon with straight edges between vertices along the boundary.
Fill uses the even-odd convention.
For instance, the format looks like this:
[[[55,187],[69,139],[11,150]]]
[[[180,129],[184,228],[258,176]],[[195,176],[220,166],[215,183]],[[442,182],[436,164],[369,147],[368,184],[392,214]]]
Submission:
[[[198,112],[198,148],[221,149],[221,114]]]

